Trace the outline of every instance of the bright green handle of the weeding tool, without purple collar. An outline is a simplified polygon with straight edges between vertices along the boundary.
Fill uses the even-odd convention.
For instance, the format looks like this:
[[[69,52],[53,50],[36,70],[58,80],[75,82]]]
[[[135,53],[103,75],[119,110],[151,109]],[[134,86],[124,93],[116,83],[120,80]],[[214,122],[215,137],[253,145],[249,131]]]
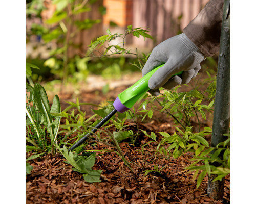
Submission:
[[[127,107],[127,108],[132,108],[133,105],[136,103],[136,101],[144,95],[148,90],[150,90],[150,87],[148,87],[148,80],[152,77],[152,75],[164,64],[156,67],[152,71],[148,72],[144,77],[142,77],[140,80],[138,80],[134,85],[131,87],[127,88],[125,91],[120,93],[118,95],[119,100],[121,103]],[[183,71],[180,71],[174,75],[180,75],[182,74]],[[174,76],[173,75],[173,76]]]

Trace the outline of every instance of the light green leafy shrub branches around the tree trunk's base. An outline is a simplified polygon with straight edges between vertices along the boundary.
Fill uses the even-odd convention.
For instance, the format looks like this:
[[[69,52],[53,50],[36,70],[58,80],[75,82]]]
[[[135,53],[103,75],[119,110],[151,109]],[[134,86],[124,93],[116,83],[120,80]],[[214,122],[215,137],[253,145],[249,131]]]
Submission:
[[[218,144],[217,147],[210,147],[204,136],[211,134],[211,128],[205,127],[199,133],[192,133],[192,127],[186,127],[183,132],[176,127],[178,133],[169,135],[165,132],[159,132],[164,138],[158,144],[157,151],[169,157],[177,158],[186,152],[194,152],[193,164],[184,169],[195,171],[193,178],[196,179],[199,171],[202,171],[198,176],[197,188],[200,186],[206,174],[217,174],[216,180],[221,180],[230,173],[230,135],[227,135],[227,140]],[[168,148],[164,144],[170,144]],[[220,154],[223,154],[223,159],[220,159]],[[202,163],[203,165],[200,165]],[[215,164],[215,165],[213,165]],[[218,165],[217,165],[218,164]]]

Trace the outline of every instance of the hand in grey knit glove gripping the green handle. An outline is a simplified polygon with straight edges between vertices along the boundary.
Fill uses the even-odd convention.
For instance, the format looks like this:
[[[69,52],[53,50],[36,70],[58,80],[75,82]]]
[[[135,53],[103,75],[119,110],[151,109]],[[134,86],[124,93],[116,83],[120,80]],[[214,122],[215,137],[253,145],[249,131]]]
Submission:
[[[196,77],[201,68],[200,62],[204,58],[198,47],[188,39],[185,33],[182,33],[161,42],[152,50],[142,69],[142,77],[165,63],[148,81],[148,87],[152,89],[150,93],[157,96],[160,87],[172,89],[177,85],[189,83]],[[181,75],[172,77],[180,71],[183,71]]]

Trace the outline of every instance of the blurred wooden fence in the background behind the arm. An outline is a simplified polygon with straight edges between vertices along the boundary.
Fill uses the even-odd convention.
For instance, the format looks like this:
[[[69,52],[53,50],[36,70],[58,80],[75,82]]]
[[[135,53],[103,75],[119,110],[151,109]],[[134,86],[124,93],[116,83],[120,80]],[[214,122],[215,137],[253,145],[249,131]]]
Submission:
[[[152,49],[163,40],[183,32],[183,28],[197,16],[207,2],[208,0],[103,0],[106,6],[103,27],[104,30],[109,28],[108,23],[113,21],[119,25],[118,28],[111,28],[113,33],[124,31],[129,24],[133,24],[134,28],[150,28],[156,41],[132,37],[127,44],[131,47]]]

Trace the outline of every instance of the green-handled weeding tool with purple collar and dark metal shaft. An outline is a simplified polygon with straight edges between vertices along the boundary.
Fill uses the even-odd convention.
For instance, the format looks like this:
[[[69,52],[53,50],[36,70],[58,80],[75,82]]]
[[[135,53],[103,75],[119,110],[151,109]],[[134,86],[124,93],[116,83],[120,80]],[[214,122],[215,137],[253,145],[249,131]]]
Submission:
[[[150,87],[148,87],[148,80],[152,77],[152,75],[164,64],[156,67],[152,71],[148,72],[144,77],[142,77],[140,80],[138,80],[134,85],[127,88],[122,93],[118,94],[118,97],[114,101],[114,107],[115,109],[111,111],[106,117],[104,117],[91,132],[87,133],[84,137],[82,137],[77,143],[75,143],[72,147],[69,148],[69,151],[74,150],[76,147],[80,146],[84,141],[86,141],[87,137],[90,136],[92,133],[95,133],[103,124],[105,124],[113,115],[115,115],[117,112],[123,113],[130,108],[133,107],[133,105],[136,103],[136,101],[143,96],[148,90],[150,90]],[[183,71],[180,71],[174,75],[180,75]]]

